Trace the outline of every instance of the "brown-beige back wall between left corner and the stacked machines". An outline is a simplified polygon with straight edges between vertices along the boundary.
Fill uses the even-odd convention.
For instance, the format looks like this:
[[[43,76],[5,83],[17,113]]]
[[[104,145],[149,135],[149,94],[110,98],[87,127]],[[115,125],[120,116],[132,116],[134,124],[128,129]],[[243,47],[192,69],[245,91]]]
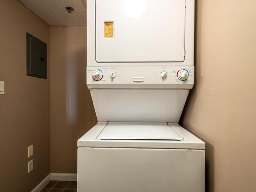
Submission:
[[[77,172],[77,139],[95,124],[86,84],[86,27],[50,27],[51,172]]]

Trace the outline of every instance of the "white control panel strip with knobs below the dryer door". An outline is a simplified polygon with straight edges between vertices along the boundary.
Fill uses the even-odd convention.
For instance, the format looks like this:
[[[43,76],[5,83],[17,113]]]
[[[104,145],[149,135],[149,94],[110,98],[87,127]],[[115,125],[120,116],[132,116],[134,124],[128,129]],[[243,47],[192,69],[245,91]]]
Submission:
[[[87,84],[90,89],[191,89],[194,66],[87,67]]]

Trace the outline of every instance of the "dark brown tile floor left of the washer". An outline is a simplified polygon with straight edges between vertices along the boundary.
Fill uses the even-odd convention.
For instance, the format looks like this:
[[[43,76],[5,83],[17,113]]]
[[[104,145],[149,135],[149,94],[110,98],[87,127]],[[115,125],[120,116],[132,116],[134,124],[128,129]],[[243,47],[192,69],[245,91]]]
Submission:
[[[77,192],[77,182],[50,181],[41,192]]]

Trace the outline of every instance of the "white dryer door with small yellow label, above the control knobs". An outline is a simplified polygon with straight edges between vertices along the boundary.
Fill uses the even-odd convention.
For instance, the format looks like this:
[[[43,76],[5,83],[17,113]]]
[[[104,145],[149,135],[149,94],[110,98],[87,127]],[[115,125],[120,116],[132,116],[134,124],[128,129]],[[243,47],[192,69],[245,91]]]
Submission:
[[[97,62],[182,62],[185,0],[96,0]]]

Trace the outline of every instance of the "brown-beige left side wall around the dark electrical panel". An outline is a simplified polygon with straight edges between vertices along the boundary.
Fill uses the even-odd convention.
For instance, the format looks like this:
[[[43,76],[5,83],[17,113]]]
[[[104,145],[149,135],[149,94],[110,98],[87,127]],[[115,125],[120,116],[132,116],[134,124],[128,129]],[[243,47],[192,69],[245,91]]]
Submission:
[[[1,7],[0,80],[6,93],[0,95],[0,191],[28,192],[50,173],[50,82],[26,75],[26,32],[49,48],[49,26],[15,0],[1,1]]]

